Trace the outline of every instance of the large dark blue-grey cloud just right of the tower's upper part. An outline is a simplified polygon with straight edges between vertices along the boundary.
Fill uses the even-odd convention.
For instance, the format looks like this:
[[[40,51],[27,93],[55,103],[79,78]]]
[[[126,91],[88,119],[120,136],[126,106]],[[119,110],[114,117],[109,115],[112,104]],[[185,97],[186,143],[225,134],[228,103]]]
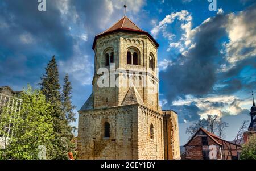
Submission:
[[[224,15],[217,15],[201,24],[194,36],[195,47],[185,57],[180,55],[175,65],[160,72],[160,80],[165,83],[162,90],[168,92],[169,101],[177,96],[200,96],[212,90],[216,82],[216,61],[222,59],[218,41],[226,35],[225,28],[221,27],[225,22]]]

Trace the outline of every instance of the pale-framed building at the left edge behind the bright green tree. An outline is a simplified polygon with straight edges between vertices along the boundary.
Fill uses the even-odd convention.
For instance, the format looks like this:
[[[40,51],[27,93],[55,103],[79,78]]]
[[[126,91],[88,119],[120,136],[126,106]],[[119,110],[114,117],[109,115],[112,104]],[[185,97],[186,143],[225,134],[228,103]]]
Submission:
[[[2,111],[2,107],[5,106],[9,111],[15,115],[20,111],[22,100],[18,98],[19,94],[22,91],[13,91],[9,86],[0,87],[0,123],[3,122],[2,117],[5,113]],[[5,134],[0,134],[0,148],[5,148],[5,145],[10,137],[13,136],[13,123],[12,120],[6,123],[5,127],[1,132],[5,132]],[[1,133],[0,132],[0,133]]]

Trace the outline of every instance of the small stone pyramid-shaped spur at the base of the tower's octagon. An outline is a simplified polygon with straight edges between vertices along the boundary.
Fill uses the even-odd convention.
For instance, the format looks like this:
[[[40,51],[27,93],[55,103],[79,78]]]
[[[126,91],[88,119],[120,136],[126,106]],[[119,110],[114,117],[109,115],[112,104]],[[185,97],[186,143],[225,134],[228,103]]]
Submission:
[[[131,104],[140,104],[144,105],[144,102],[139,95],[137,89],[132,85],[123,99],[122,105],[131,105]]]

